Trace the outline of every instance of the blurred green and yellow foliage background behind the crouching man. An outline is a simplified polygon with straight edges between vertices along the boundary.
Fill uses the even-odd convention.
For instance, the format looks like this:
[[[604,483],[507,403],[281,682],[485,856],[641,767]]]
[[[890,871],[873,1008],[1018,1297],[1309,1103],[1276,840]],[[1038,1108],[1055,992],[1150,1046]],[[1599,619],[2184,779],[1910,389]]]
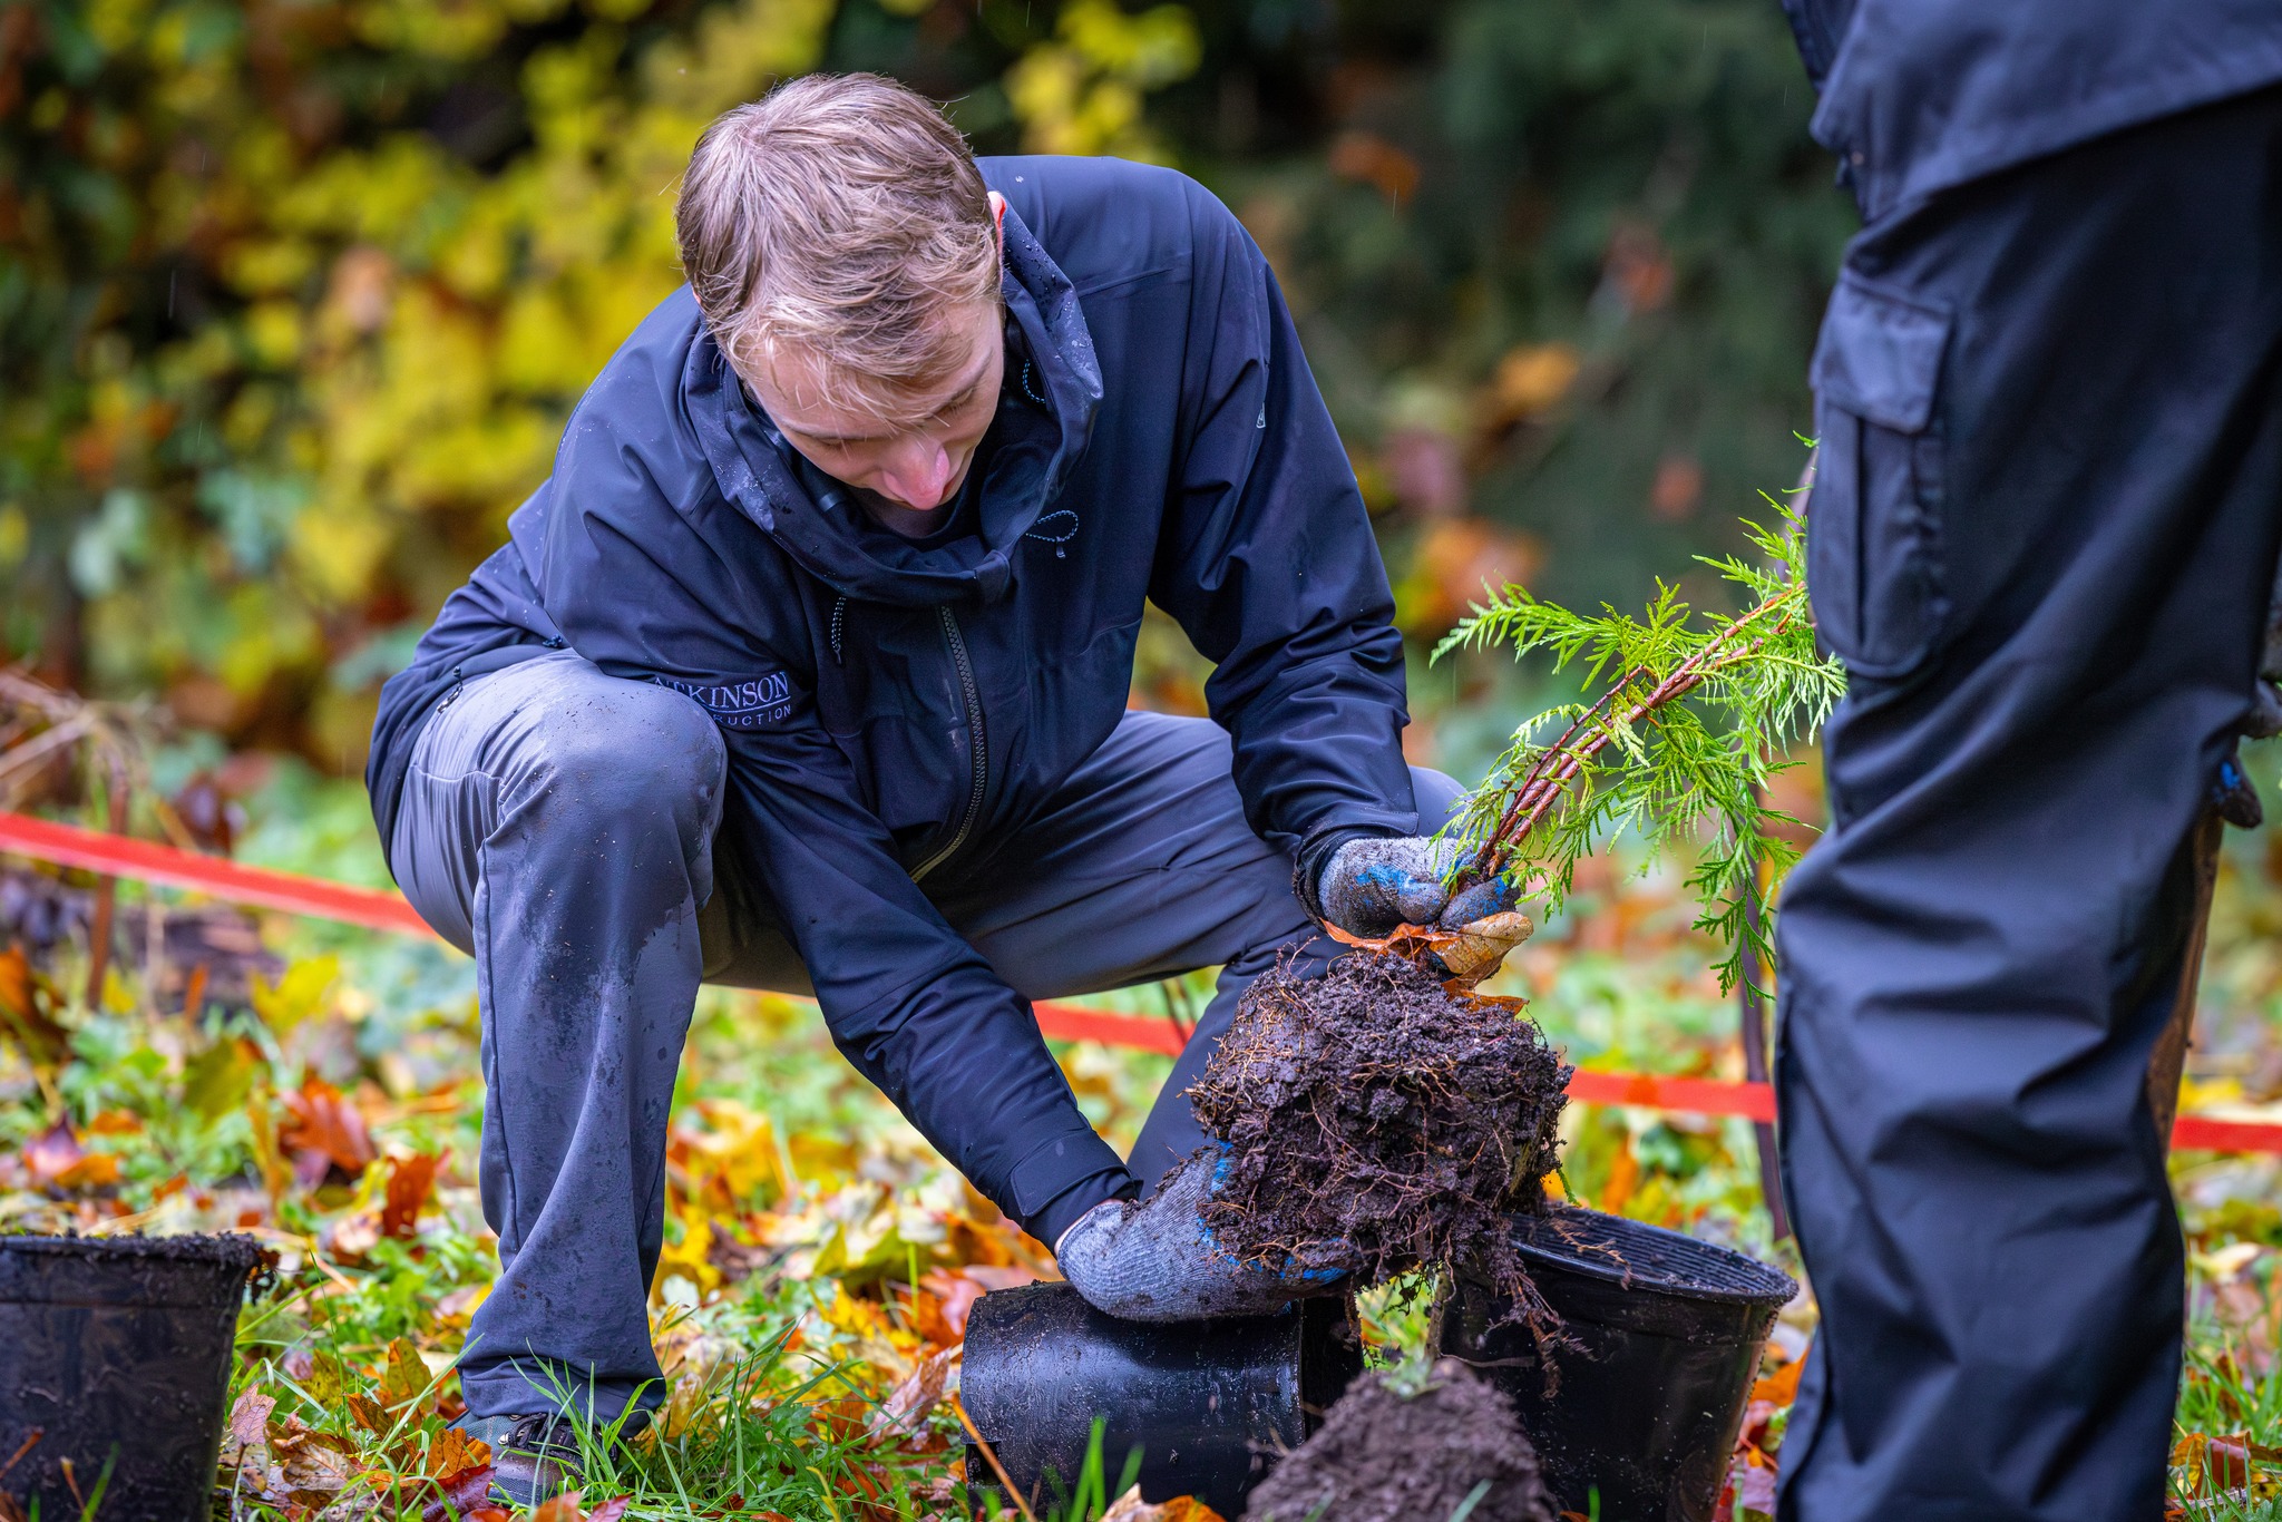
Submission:
[[[354,771],[678,283],[698,130],[808,68],[1237,208],[1422,641],[1798,472],[1851,208],[1773,0],[0,0],[0,662]],[[1136,687],[1196,703],[1178,637]]]

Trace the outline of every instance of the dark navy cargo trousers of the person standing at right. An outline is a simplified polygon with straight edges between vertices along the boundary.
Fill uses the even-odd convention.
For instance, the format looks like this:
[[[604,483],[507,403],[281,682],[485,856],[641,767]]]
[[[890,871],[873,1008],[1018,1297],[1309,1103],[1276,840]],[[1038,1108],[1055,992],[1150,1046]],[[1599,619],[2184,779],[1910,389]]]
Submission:
[[[2282,541],[2282,94],[1848,251],[1810,591],[1851,691],[1780,917],[1821,1333],[1785,1522],[2145,1522],[2182,1244],[2147,1107]]]

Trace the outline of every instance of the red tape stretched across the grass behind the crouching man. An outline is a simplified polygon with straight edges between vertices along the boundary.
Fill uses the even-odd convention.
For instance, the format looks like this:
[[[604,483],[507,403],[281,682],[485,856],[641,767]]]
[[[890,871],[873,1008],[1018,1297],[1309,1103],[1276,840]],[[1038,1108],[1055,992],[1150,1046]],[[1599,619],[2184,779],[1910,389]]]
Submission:
[[[173,847],[103,831],[82,831],[30,815],[0,812],[0,851],[32,856],[59,867],[82,867],[105,876],[130,876],[141,883],[189,888],[230,904],[274,908],[288,915],[363,924],[374,931],[429,936],[436,931],[404,901],[399,892],[347,888],[292,872],[242,867],[221,856],[199,856]],[[1171,1020],[1111,1015],[1077,1004],[1034,1004],[1038,1031],[1054,1041],[1098,1041],[1114,1047],[1164,1052],[1178,1057],[1184,1043]],[[1696,1116],[1775,1118],[1775,1091],[1769,1084],[1730,1084],[1707,1077],[1661,1077],[1652,1072],[1593,1072],[1579,1068],[1570,1079],[1570,1098],[1586,1104],[1632,1104]],[[2218,1120],[2214,1116],[2179,1116],[2170,1132],[2175,1148],[2209,1152],[2282,1152],[2282,1123]]]

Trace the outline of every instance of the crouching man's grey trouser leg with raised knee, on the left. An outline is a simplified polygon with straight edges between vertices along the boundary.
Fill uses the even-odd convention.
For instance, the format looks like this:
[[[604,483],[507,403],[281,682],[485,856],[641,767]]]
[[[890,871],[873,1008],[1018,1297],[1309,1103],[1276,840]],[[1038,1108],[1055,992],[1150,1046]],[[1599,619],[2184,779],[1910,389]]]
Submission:
[[[723,769],[689,698],[573,653],[472,680],[415,744],[390,865],[475,956],[484,1020],[475,1415],[662,1399],[648,1287]]]

